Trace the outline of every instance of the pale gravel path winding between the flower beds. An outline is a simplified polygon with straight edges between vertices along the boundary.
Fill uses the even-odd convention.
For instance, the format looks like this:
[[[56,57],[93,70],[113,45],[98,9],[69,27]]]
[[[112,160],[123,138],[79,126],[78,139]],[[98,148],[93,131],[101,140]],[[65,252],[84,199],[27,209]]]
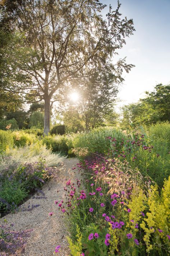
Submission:
[[[69,248],[66,239],[67,228],[64,221],[63,213],[59,207],[55,205],[55,200],[64,198],[64,190],[66,180],[75,180],[80,178],[76,167],[78,160],[76,158],[65,159],[59,168],[59,180],[49,181],[43,186],[43,193],[46,198],[36,199],[30,198],[22,207],[28,207],[32,204],[40,204],[39,207],[32,211],[17,212],[8,214],[2,219],[8,221],[8,224],[14,223],[14,230],[33,229],[31,236],[27,240],[25,252],[20,253],[22,256],[51,256],[55,251],[55,247],[60,245],[59,256],[68,256]],[[39,195],[41,196],[41,194]],[[54,212],[49,216],[49,212]]]

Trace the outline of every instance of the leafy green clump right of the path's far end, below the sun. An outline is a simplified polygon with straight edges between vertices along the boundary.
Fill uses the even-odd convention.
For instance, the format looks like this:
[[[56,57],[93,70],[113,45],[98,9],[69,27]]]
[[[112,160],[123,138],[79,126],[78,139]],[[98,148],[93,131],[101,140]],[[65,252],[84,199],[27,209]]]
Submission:
[[[111,127],[95,128],[89,133],[81,133],[75,136],[73,144],[75,148],[87,147],[90,152],[105,154],[110,147],[110,141],[106,137],[116,138],[119,144],[125,138],[120,129]]]

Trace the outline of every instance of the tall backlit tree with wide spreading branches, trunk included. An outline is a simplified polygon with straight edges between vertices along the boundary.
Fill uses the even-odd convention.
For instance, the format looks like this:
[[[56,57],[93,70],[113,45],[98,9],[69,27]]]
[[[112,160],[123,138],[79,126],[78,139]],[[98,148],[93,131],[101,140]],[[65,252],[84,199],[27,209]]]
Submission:
[[[32,78],[32,88],[45,103],[44,133],[50,129],[50,107],[63,93],[65,84],[86,79],[101,65],[110,66],[115,78],[133,65],[125,59],[112,62],[116,51],[132,35],[133,20],[121,19],[118,7],[111,6],[107,20],[100,15],[98,0],[6,0],[2,19],[25,36],[24,45],[32,58],[19,68]],[[30,87],[15,85],[10,91],[29,93]],[[29,89],[28,89],[29,88]],[[9,89],[8,89],[9,90]]]

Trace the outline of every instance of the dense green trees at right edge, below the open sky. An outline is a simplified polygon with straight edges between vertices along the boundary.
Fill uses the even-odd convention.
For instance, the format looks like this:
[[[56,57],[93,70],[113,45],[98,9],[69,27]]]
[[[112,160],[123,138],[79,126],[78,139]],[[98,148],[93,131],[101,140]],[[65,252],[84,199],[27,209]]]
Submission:
[[[170,85],[158,84],[147,97],[123,107],[121,127],[149,125],[158,121],[170,121]]]

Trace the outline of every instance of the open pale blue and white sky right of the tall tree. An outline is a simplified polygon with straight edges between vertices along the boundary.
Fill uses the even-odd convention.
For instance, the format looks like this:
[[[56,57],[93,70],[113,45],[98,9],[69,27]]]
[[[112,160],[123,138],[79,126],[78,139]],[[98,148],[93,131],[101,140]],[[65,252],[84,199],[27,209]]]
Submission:
[[[101,0],[116,8],[116,0]],[[123,74],[118,97],[122,105],[134,103],[153,91],[156,84],[170,84],[170,0],[120,0],[122,18],[133,18],[134,35],[127,37],[120,58],[135,67]],[[103,10],[103,17],[107,13]]]

